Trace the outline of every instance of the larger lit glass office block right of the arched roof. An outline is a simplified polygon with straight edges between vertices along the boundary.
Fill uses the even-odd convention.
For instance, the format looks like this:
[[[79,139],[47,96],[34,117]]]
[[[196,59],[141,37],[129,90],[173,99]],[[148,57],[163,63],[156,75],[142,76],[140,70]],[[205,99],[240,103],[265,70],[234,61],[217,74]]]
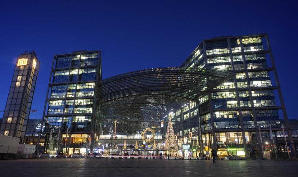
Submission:
[[[276,137],[276,131],[281,129],[278,110],[288,121],[267,34],[204,39],[181,66],[236,72],[199,99],[201,142],[193,144],[197,143],[207,155],[214,148],[218,157],[230,154],[259,157],[259,150],[274,151],[270,148],[272,142],[262,142],[259,130],[263,136],[271,125]],[[281,105],[277,105],[276,99]],[[174,127],[180,136],[197,131],[192,123],[196,121],[192,120],[196,114],[193,104],[173,113]],[[190,120],[192,126],[185,126],[187,121],[182,120]],[[190,143],[187,138],[178,141]]]

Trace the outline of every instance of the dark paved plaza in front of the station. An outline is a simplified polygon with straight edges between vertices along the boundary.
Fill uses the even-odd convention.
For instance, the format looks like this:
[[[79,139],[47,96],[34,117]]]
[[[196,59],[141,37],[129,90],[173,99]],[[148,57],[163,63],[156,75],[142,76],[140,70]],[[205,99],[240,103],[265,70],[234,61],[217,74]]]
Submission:
[[[298,161],[43,158],[1,160],[1,176],[297,176]]]

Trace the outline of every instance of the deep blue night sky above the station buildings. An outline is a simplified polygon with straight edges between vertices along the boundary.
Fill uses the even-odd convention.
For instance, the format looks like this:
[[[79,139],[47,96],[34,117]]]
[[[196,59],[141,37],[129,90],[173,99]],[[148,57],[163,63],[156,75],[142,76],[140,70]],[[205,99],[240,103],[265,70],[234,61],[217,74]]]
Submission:
[[[288,117],[297,118],[297,5],[260,0],[2,0],[0,110],[5,109],[13,61],[24,51],[34,49],[41,61],[31,107],[37,111],[30,114],[41,119],[54,54],[100,49],[105,79],[133,70],[180,66],[202,39],[268,33]]]

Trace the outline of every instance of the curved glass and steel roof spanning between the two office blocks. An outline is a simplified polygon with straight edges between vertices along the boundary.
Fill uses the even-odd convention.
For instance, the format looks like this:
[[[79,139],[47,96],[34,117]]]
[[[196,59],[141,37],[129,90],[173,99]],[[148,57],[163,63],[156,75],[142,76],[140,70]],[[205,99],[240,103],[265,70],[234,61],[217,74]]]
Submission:
[[[196,102],[235,73],[213,69],[166,67],[138,70],[98,82],[97,105],[103,116],[162,117],[187,102]]]

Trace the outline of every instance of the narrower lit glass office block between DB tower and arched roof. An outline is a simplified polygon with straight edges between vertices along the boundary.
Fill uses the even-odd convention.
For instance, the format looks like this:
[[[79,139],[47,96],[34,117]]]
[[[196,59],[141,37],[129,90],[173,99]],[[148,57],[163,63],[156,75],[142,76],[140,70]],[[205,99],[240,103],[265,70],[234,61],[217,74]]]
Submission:
[[[90,152],[101,79],[100,50],[54,55],[42,122],[46,152]]]

